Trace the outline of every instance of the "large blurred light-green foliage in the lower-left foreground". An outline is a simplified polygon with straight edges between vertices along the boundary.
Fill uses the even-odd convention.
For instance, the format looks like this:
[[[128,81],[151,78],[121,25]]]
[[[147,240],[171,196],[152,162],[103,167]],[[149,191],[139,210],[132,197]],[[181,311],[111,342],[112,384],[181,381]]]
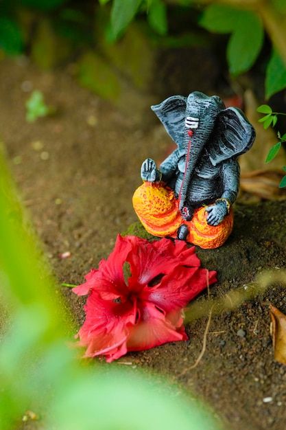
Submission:
[[[139,370],[124,372],[116,363],[82,363],[78,349],[71,348],[75,328],[60,299],[60,286],[23,214],[2,148],[0,237],[0,295],[5,308],[0,321],[1,430],[19,428],[27,409],[45,429],[221,428],[209,411],[176,385]]]

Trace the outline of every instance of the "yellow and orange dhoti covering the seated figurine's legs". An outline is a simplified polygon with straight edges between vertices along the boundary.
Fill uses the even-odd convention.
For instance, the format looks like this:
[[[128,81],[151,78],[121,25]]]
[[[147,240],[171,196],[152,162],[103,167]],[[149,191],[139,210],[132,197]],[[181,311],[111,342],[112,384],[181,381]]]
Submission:
[[[233,230],[233,210],[217,226],[206,222],[205,207],[195,209],[191,221],[182,218],[178,199],[174,192],[163,182],[143,182],[134,192],[132,199],[134,210],[143,227],[154,236],[177,237],[180,225],[189,228],[187,242],[203,249],[214,249],[222,246]]]

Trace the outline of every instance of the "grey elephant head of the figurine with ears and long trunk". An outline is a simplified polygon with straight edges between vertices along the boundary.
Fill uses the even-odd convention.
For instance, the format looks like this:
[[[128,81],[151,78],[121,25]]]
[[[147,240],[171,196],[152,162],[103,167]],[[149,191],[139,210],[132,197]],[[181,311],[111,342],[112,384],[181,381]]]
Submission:
[[[184,206],[187,188],[195,167],[207,150],[215,166],[226,159],[246,152],[255,132],[240,109],[225,109],[217,96],[195,91],[189,96],[174,95],[151,106],[167,133],[176,142],[180,155],[186,157],[184,179],[180,190],[180,209]]]

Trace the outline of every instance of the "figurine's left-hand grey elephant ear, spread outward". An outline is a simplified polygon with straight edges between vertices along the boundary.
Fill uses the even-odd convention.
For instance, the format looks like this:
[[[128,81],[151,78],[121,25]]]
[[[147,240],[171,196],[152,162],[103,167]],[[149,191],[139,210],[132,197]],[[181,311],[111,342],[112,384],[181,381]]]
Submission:
[[[179,146],[184,140],[184,119],[186,115],[187,97],[173,95],[160,104],[151,106],[165,127],[167,133]]]

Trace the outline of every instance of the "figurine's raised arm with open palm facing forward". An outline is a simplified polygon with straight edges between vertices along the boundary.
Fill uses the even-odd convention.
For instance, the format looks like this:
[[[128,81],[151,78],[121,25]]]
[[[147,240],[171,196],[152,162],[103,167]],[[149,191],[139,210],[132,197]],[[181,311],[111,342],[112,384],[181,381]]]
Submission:
[[[141,166],[142,180],[149,182],[167,182],[173,176],[174,172],[176,172],[178,159],[179,154],[178,149],[176,149],[163,161],[163,163],[160,164],[160,170],[156,168],[156,163],[154,160],[151,158],[145,159]]]

